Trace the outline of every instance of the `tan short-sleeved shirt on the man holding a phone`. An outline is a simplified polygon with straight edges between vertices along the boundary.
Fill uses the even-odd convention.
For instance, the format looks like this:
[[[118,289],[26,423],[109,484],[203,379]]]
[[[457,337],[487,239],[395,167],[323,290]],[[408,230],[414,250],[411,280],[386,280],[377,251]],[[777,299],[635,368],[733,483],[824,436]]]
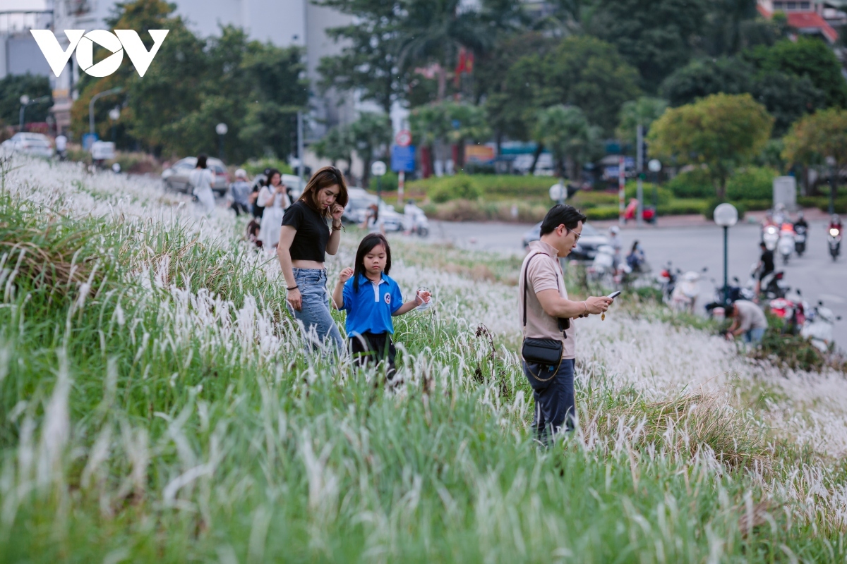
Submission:
[[[529,262],[529,287],[527,288],[527,325],[523,328],[523,337],[535,339],[559,339],[563,343],[562,359],[576,358],[576,340],[574,338],[573,321],[570,328],[565,331],[567,339],[562,338],[559,324],[555,317],[547,315],[536,297],[536,292],[544,290],[558,290],[562,298],[567,299],[567,288],[565,278],[557,252],[554,247],[541,241],[533,241],[529,244],[529,254],[523,259],[521,266],[521,277],[518,282],[518,318],[523,324],[523,272],[527,268],[527,261],[533,255],[536,256]]]

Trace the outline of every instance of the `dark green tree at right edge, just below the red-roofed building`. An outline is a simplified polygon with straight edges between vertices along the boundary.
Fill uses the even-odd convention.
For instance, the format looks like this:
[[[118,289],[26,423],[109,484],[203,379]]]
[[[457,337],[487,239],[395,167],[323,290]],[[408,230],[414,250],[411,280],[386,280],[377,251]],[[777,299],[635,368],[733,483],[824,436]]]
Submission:
[[[841,63],[823,41],[800,36],[797,41],[756,47],[746,56],[765,72],[807,77],[823,92],[828,107],[847,107],[847,84],[841,74]]]

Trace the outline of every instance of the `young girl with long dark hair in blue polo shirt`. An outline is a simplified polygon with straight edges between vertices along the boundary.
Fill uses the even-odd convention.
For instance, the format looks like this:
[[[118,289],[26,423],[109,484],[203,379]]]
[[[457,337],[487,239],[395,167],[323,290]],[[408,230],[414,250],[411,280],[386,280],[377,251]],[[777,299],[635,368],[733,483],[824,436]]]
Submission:
[[[360,365],[388,361],[386,375],[394,375],[394,323],[391,317],[403,315],[429,302],[429,292],[402,301],[400,287],[388,273],[391,248],[382,233],[370,233],[359,243],[355,268],[341,271],[332,298],[338,309],[346,309],[347,337],[353,359]]]

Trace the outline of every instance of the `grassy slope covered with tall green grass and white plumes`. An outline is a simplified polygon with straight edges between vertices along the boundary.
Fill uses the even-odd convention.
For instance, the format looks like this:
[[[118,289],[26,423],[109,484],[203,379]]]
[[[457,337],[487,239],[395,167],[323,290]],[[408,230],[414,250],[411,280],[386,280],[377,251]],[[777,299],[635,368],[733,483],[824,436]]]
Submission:
[[[481,320],[514,342],[513,265],[398,245],[401,286],[439,305],[398,322],[405,383],[386,391],[307,358],[273,263],[176,203],[71,167],[4,178],[3,561],[844,560],[844,470],[761,430],[783,421],[774,385],[735,381],[776,406],[743,413],[628,370],[695,373],[705,354],[645,369],[650,343],[626,347],[696,331],[586,326],[582,429],[542,452],[516,357],[474,337]]]

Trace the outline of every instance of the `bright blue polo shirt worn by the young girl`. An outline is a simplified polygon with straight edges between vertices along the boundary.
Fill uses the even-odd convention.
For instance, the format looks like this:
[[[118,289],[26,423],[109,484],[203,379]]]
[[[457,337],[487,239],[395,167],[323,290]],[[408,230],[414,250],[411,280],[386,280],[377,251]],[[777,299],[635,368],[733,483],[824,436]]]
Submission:
[[[344,284],[344,307],[347,310],[347,336],[354,337],[365,331],[393,333],[393,314],[403,304],[400,287],[390,277],[382,275],[374,284],[363,274],[359,275],[359,289],[353,290],[353,278]]]

